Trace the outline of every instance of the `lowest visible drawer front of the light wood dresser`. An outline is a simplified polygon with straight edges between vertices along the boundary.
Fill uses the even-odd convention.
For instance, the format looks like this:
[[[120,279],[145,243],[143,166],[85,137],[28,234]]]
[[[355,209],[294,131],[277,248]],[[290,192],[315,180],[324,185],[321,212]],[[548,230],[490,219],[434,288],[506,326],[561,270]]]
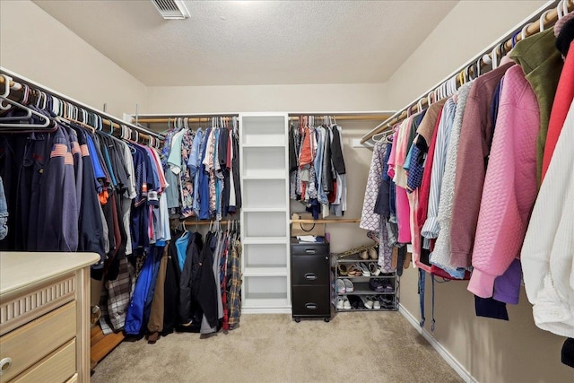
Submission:
[[[70,379],[75,373],[75,339],[50,353],[42,361],[13,379],[13,383],[57,382]],[[11,382],[11,383],[12,383]]]

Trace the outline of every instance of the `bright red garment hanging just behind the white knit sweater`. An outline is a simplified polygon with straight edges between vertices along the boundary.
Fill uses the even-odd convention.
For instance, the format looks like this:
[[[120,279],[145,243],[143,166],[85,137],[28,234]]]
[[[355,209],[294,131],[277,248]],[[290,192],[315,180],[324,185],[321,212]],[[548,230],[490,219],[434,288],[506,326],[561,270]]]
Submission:
[[[550,122],[548,124],[548,133],[546,134],[546,144],[544,144],[544,157],[542,160],[542,179],[548,170],[552,153],[558,142],[558,137],[564,126],[566,115],[570,109],[570,104],[574,100],[574,41],[570,43],[570,54],[566,56],[564,67],[560,75],[560,82],[554,96]]]

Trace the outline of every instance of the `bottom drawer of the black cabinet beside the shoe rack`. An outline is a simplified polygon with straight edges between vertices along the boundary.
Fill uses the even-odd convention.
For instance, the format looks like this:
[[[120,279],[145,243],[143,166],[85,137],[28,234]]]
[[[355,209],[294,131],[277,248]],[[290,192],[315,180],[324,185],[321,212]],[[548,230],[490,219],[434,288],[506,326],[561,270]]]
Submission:
[[[292,316],[293,317],[330,317],[331,304],[329,296],[331,289],[325,286],[293,286]]]

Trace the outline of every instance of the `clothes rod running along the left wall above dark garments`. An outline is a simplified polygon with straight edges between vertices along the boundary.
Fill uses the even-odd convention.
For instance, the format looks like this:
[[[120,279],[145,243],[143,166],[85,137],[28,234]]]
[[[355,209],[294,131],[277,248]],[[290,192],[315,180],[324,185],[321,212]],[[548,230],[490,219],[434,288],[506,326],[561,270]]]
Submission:
[[[105,126],[109,126],[111,128],[113,128],[114,130],[121,130],[121,126],[127,126],[130,129],[134,129],[135,131],[138,132],[138,135],[140,135],[141,137],[143,137],[144,139],[150,139],[151,136],[160,139],[161,141],[163,141],[164,136],[153,132],[152,130],[146,129],[142,126],[135,126],[134,124],[131,124],[129,122],[123,121],[119,118],[116,118],[112,115],[109,115],[106,112],[103,112],[99,109],[95,109],[92,108],[86,104],[84,104],[83,102],[80,102],[78,100],[74,100],[70,97],[65,96],[64,94],[58,92],[58,91],[54,91],[46,86],[40,85],[39,83],[36,83],[34,81],[31,81],[30,79],[20,75],[20,74],[16,74],[8,69],[5,69],[4,66],[0,66],[0,74],[5,74],[8,77],[11,78],[10,80],[10,88],[13,89],[14,91],[21,91],[22,90],[22,83],[25,83],[26,85],[30,86],[30,88],[32,89],[36,89],[39,91],[43,91],[45,93],[48,93],[49,95],[56,97],[57,99],[60,100],[65,100],[66,102],[73,104],[75,107],[79,108],[79,109],[85,109],[86,111],[90,111],[91,113],[95,113],[97,115],[100,115],[101,117],[101,122],[102,125]],[[0,76],[0,83],[4,83],[4,77]]]

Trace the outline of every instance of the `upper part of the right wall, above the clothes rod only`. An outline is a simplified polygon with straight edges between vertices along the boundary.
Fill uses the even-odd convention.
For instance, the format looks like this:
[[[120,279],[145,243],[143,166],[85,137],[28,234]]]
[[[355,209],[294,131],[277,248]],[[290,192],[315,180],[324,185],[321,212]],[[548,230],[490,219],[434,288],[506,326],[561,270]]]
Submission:
[[[545,3],[460,1],[389,79],[387,107],[404,108]]]

